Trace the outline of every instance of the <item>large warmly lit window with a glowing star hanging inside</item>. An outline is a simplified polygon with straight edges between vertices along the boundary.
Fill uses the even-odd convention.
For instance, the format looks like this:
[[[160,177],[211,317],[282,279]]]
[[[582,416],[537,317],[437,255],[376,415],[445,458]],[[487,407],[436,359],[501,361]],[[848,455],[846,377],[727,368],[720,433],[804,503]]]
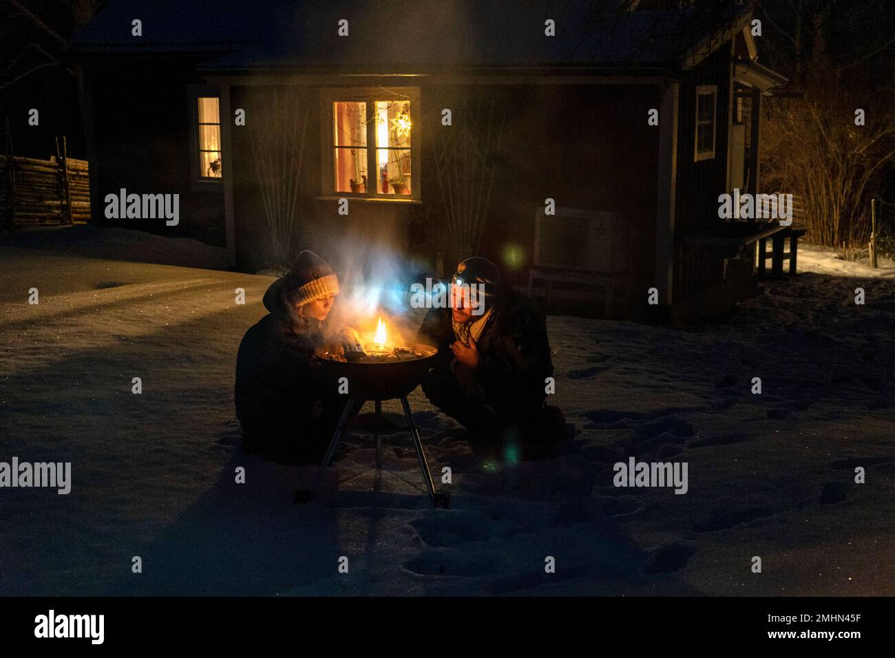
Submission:
[[[356,90],[336,90],[325,97],[333,126],[333,177],[324,180],[325,193],[419,198],[413,187],[417,97],[394,93],[390,99],[361,93],[359,99]]]

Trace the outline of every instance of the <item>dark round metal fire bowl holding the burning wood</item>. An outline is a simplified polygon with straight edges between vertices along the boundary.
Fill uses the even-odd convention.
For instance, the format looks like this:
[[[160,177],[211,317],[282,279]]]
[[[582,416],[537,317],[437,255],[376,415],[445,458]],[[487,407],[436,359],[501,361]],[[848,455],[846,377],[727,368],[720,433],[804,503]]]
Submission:
[[[321,357],[320,362],[327,380],[348,380],[348,395],[355,399],[388,400],[406,397],[420,385],[422,378],[435,362],[435,347],[422,344],[408,346],[419,357],[359,361],[337,361]]]

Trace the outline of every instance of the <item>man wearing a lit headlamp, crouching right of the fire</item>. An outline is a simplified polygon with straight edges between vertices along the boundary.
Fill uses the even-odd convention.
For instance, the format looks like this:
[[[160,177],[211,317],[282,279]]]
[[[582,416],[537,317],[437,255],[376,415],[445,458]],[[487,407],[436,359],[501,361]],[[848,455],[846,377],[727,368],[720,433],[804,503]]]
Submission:
[[[471,290],[484,289],[476,308]],[[553,374],[544,316],[530,300],[500,286],[500,271],[481,257],[461,262],[451,280],[453,308],[432,308],[417,342],[439,360],[422,382],[430,402],[456,419],[480,454],[506,461],[545,457],[565,436],[566,419],[544,406]]]

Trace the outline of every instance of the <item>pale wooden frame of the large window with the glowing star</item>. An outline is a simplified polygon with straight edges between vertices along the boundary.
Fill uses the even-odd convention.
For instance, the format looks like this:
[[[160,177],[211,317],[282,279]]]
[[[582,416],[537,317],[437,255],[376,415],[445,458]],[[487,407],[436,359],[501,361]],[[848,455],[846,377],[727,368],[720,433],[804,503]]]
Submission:
[[[396,96],[397,94],[397,96]],[[410,101],[411,115],[411,140],[410,140],[410,179],[411,190],[409,194],[381,193],[377,188],[377,180],[371,181],[370,172],[375,171],[376,151],[379,145],[376,143],[376,125],[371,120],[371,105],[376,101],[405,98]],[[337,192],[336,191],[336,144],[333,140],[333,125],[335,116],[333,104],[337,102],[367,103],[367,192]],[[420,88],[419,87],[330,87],[321,90],[320,93],[320,147],[322,164],[320,172],[320,199],[358,199],[361,201],[392,201],[394,203],[421,203],[420,190]]]

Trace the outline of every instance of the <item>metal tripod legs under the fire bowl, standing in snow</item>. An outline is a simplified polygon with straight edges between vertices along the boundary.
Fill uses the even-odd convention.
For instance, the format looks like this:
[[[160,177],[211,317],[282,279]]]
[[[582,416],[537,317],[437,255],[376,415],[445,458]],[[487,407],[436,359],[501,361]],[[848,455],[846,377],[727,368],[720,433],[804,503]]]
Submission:
[[[362,414],[349,421],[351,410],[354,408],[354,404],[359,401],[360,400],[357,400],[354,397],[348,398],[348,402],[345,404],[345,410],[342,412],[342,417],[339,418],[336,432],[333,432],[333,438],[329,442],[327,454],[323,457],[323,462],[320,464],[320,468],[314,476],[314,482],[311,484],[310,491],[298,491],[295,494],[295,502],[308,502],[317,497],[317,489],[320,486],[320,480],[323,478],[323,472],[326,470],[327,466],[329,466],[333,456],[336,454],[338,444],[345,436],[346,431],[357,432],[360,434],[373,434],[376,437],[376,467],[381,468],[382,435],[396,434],[397,432],[405,432],[409,430],[410,435],[413,438],[413,447],[416,448],[416,457],[419,457],[420,460],[422,479],[425,480],[426,487],[429,489],[429,497],[432,501],[432,505],[436,508],[450,508],[450,491],[435,491],[429,464],[426,462],[426,453],[422,449],[420,431],[417,429],[416,423],[413,423],[413,414],[410,413],[410,404],[407,402],[407,397],[401,396],[401,406],[404,407],[404,415],[407,421],[407,424],[404,427],[389,422],[386,415],[382,413],[382,400],[373,401],[375,404],[375,412],[373,414]],[[397,414],[389,415],[398,418],[400,417]]]

